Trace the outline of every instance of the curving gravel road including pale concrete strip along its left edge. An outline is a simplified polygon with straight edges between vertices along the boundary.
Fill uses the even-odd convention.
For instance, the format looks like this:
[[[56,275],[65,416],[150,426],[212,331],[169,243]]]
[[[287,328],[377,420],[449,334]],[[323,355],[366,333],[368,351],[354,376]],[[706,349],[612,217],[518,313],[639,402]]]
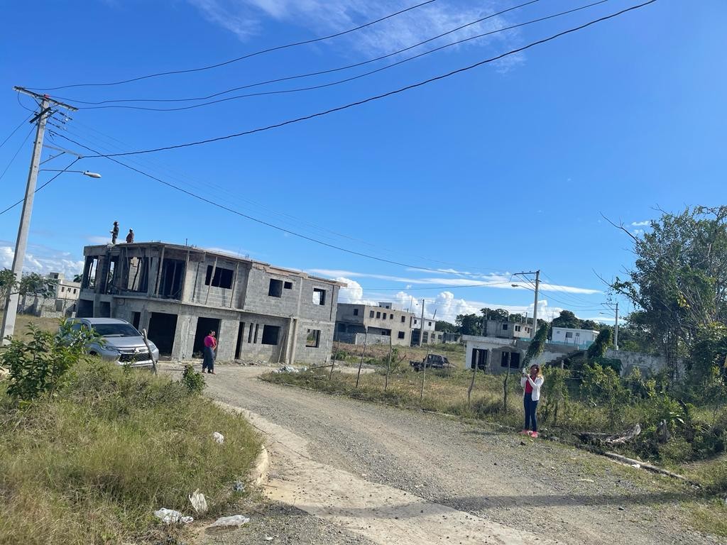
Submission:
[[[486,424],[257,379],[269,370],[219,366],[206,392],[268,433],[270,497],[361,542],[719,542],[688,528],[678,502],[690,491],[668,477]]]

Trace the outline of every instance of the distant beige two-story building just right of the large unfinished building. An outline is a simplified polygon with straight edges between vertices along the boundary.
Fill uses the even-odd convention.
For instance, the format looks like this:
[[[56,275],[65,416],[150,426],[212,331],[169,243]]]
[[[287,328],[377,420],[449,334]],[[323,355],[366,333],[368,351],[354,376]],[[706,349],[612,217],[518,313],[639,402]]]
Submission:
[[[334,340],[350,344],[366,342],[403,344],[411,342],[411,312],[398,310],[390,302],[370,304],[339,303]],[[368,334],[367,334],[368,332]]]

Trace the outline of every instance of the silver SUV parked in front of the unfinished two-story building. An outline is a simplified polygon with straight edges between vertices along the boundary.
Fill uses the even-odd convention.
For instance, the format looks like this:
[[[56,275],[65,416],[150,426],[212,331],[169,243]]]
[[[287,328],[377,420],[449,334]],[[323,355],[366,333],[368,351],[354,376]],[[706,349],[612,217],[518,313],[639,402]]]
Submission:
[[[99,355],[103,360],[132,367],[151,367],[159,360],[159,349],[149,341],[151,353],[144,344],[142,334],[126,320],[116,318],[75,318],[71,329],[80,331],[89,328],[95,331],[103,342],[91,342],[86,350],[90,355]]]

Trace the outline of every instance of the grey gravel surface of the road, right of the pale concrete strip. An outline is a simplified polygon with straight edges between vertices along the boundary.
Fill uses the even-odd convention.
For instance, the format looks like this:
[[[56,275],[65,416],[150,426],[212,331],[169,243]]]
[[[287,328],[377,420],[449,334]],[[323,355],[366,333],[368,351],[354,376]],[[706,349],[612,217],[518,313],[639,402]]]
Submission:
[[[257,379],[268,370],[220,366],[217,375],[206,375],[207,393],[304,438],[312,459],[371,485],[561,544],[722,543],[688,528],[678,501],[690,491],[668,477],[486,424]],[[284,470],[273,457],[271,472]],[[318,532],[297,542],[358,542],[348,530],[345,539],[320,541]]]

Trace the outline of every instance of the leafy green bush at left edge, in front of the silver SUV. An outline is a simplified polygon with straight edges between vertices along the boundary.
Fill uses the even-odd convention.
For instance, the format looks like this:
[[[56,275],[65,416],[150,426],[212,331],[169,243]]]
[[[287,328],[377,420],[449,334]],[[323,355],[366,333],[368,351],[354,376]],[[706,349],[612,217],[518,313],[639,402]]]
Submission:
[[[64,321],[57,333],[28,326],[27,341],[16,337],[0,354],[0,365],[9,371],[7,393],[15,400],[30,401],[53,395],[68,370],[85,358],[84,345],[97,336],[86,329],[72,331]]]

